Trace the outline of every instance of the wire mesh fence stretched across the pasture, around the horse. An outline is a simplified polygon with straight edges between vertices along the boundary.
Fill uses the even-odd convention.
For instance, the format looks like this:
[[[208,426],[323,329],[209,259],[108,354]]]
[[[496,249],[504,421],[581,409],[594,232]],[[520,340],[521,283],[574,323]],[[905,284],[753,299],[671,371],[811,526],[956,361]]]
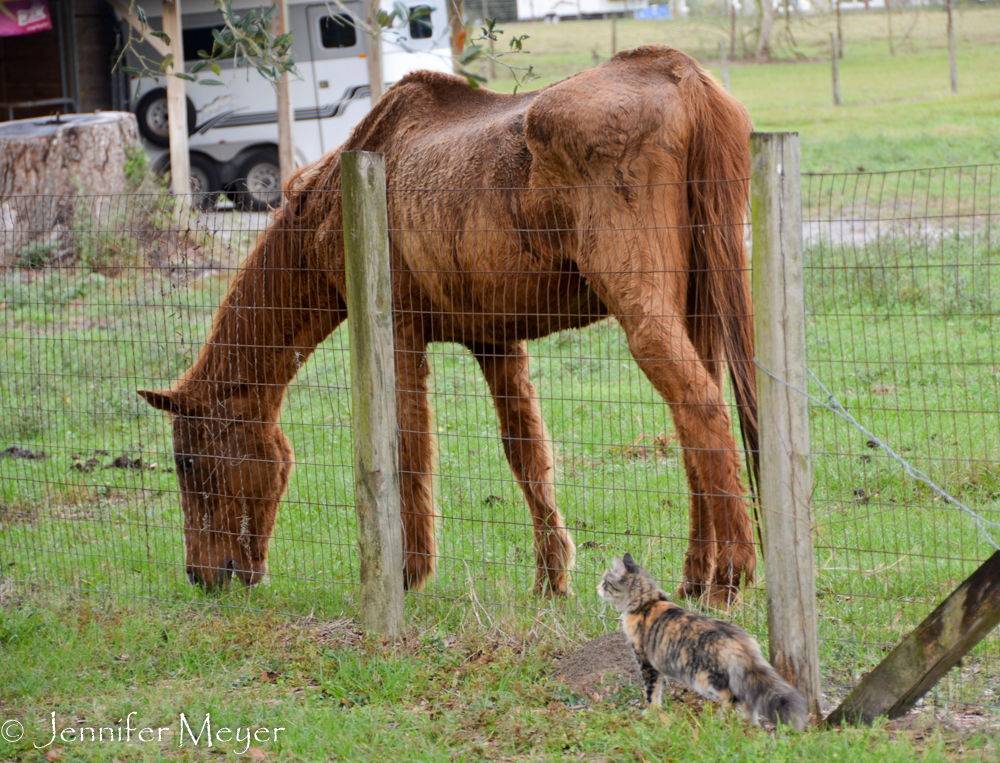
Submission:
[[[810,175],[802,188],[809,367],[870,430],[994,520],[998,182],[994,165]],[[390,209],[404,193],[390,190]],[[169,199],[122,196],[76,200],[72,214],[42,231],[9,214],[24,201],[3,200],[0,241],[0,261],[12,264],[0,297],[3,584],[355,612],[346,328],[321,343],[289,390],[281,421],[297,467],[268,579],[253,589],[205,594],[188,584],[170,424],[135,394],[169,387],[194,360],[268,217],[213,210],[189,229]],[[48,209],[68,203],[31,200]],[[656,221],[644,226],[630,235],[650,235]],[[398,240],[451,233],[390,231]],[[473,226],[467,235],[495,234]],[[577,545],[575,595],[556,603],[530,596],[531,521],[487,384],[470,351],[432,343],[438,574],[407,597],[408,611],[461,607],[485,622],[546,608],[571,616],[581,633],[610,630],[616,621],[591,592],[612,554],[631,551],[668,591],[680,580],[683,457],[667,407],[614,320],[534,340],[528,352],[556,500]],[[846,423],[814,407],[811,430],[821,668],[833,703],[993,548]],[[763,588],[750,587],[730,616],[763,636],[765,609]],[[932,699],[996,712],[998,646],[995,635],[984,640]]]

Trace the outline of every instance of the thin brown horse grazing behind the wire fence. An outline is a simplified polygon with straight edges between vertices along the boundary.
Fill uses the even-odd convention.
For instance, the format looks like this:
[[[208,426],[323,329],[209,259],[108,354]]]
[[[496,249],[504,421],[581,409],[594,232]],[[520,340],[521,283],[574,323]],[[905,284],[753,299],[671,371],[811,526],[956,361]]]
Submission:
[[[614,316],[669,404],[691,489],[680,595],[735,595],[756,556],[723,398],[734,384],[756,452],[753,332],[742,221],[750,120],[688,56],[651,46],[537,92],[401,80],[343,150],[384,152],[404,574],[435,565],[429,342],[482,368],[531,511],[536,591],[566,593],[574,546],[525,341]],[[340,156],[304,168],[234,277],[197,361],[171,391],[188,576],[259,580],[293,463],[285,390],[346,318]],[[492,189],[492,190],[483,190]]]

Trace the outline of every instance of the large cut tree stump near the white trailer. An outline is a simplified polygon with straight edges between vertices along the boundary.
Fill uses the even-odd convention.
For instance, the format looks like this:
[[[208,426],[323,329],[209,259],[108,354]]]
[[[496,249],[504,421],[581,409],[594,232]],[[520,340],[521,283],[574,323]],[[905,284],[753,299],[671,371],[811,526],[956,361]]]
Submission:
[[[0,124],[0,268],[47,264],[74,225],[112,213],[109,197],[129,190],[126,166],[140,150],[126,112]]]

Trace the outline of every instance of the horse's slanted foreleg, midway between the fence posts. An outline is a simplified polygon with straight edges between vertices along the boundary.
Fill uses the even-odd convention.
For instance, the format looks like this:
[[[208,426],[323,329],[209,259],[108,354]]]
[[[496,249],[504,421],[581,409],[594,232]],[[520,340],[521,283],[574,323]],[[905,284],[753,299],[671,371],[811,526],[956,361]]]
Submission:
[[[576,548],[556,508],[552,451],[535,386],[528,379],[528,353],[523,342],[473,351],[493,395],[507,462],[531,510],[535,592],[566,594],[566,573]]]

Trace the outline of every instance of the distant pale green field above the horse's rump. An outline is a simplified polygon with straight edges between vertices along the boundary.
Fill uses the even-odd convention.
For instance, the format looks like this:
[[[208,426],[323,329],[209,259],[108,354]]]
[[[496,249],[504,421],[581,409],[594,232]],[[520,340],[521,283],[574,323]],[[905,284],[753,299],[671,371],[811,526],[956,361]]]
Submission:
[[[532,65],[534,89],[593,66],[610,55],[610,21],[509,23],[505,36],[527,34],[529,54],[502,60]],[[957,16],[959,94],[948,92],[944,17],[922,12],[906,43],[889,54],[884,14],[845,15],[840,63],[843,105],[832,105],[827,17],[793,21],[802,60],[790,49],[774,63],[730,64],[733,95],[761,131],[797,131],[804,172],[854,172],[1000,162],[1000,10],[966,8]],[[907,26],[909,24],[907,23]],[[721,20],[620,21],[618,49],[672,45],[699,58],[716,77],[718,42],[728,44]],[[897,29],[897,34],[899,34]],[[489,87],[510,91],[514,81],[497,69]]]

